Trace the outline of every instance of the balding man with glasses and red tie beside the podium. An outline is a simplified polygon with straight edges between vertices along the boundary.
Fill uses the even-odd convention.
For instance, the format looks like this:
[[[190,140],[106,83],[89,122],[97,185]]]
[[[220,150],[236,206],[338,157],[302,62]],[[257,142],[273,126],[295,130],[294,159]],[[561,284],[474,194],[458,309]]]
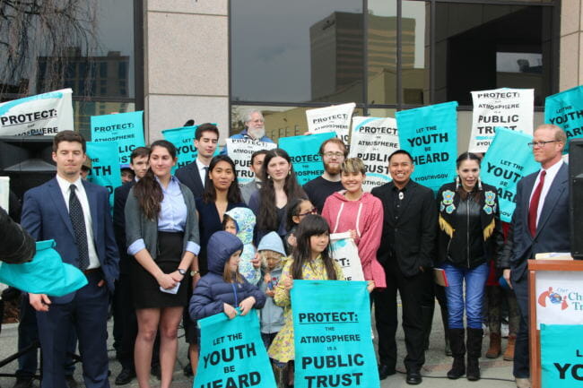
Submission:
[[[530,145],[541,170],[518,182],[512,253],[509,263],[500,263],[520,308],[513,371],[519,388],[530,387],[527,260],[539,253],[570,252],[569,171],[561,159],[566,142],[566,134],[556,125],[535,129]]]

